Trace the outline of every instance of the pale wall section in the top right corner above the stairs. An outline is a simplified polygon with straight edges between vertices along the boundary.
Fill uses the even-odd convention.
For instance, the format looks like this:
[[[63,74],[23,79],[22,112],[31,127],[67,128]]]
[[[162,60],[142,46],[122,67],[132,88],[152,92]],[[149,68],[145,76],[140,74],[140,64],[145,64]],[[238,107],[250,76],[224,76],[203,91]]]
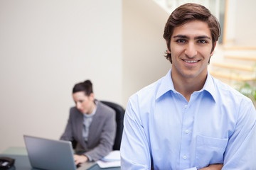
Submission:
[[[225,38],[227,45],[255,47],[256,46],[256,1],[230,0],[226,15]]]

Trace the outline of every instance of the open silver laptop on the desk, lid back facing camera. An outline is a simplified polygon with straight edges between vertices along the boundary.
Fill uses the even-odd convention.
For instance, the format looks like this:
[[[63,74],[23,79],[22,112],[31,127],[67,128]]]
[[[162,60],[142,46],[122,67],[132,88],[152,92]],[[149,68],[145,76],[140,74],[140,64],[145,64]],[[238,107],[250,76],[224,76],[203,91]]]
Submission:
[[[31,166],[35,169],[75,170],[71,142],[23,135]]]

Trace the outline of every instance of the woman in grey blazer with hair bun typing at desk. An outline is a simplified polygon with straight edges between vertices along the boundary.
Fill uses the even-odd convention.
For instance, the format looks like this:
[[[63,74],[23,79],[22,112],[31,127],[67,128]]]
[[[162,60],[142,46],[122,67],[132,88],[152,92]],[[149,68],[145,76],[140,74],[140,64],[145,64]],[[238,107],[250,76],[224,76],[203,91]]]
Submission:
[[[115,112],[95,100],[90,80],[75,84],[73,88],[75,107],[60,140],[75,145],[75,164],[97,161],[112,151],[116,133]]]

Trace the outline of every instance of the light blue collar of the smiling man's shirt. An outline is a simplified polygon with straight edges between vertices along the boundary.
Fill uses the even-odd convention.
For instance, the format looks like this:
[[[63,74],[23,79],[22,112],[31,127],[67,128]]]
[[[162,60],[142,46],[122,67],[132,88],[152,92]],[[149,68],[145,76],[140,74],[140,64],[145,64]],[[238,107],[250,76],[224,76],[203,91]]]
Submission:
[[[159,89],[156,93],[156,99],[166,94],[168,91],[174,91],[174,93],[177,93],[177,91],[174,89],[174,82],[171,79],[171,69],[166,76],[161,79]],[[203,89],[201,89],[199,92],[201,91],[208,91],[208,93],[213,97],[213,100],[216,101],[215,85],[213,82],[213,77],[210,76],[209,72],[207,73],[206,83],[204,84]]]

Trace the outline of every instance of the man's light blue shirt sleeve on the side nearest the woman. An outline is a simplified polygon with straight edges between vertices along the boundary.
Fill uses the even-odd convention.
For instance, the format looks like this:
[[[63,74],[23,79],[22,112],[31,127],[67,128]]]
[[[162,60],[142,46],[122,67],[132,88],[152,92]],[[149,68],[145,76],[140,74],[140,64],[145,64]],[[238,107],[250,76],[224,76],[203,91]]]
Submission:
[[[121,169],[151,169],[149,142],[146,140],[136,105],[133,105],[130,99],[124,114],[124,130],[120,149]]]

